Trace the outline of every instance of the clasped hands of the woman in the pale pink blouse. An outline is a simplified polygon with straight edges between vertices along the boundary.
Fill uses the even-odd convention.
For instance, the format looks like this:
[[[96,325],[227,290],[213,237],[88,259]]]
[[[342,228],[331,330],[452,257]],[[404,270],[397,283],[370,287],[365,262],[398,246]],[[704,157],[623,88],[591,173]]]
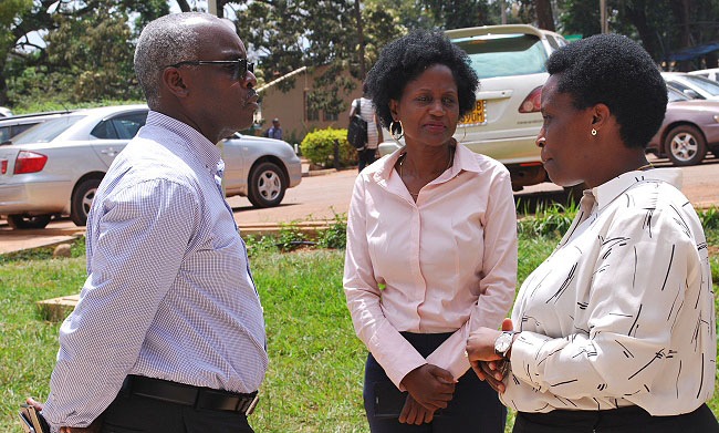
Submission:
[[[424,364],[407,373],[402,385],[409,391],[415,402],[434,412],[447,408],[447,402],[452,399],[455,378],[442,368]]]

